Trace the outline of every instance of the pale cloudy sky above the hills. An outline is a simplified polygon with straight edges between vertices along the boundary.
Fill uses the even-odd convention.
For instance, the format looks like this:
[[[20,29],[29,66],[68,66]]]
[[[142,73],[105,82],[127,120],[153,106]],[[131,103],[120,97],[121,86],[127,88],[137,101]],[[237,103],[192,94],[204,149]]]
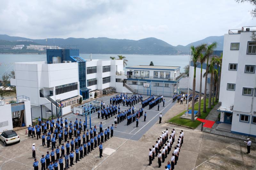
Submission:
[[[0,34],[30,39],[144,39],[187,45],[256,25],[235,0],[12,0],[0,2]]]

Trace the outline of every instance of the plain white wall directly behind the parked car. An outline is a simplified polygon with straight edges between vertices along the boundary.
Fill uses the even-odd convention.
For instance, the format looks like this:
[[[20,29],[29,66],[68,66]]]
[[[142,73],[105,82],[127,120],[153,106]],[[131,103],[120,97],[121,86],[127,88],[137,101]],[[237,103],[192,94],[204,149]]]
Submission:
[[[12,130],[12,109],[11,104],[0,106],[0,132]]]

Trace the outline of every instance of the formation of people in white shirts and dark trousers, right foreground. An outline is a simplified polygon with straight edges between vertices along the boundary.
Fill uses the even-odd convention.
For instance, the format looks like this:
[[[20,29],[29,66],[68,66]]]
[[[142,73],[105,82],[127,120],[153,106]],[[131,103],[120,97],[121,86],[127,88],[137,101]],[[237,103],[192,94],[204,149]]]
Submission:
[[[149,166],[152,164],[152,160],[157,157],[158,160],[158,167],[160,168],[162,166],[162,163],[164,163],[165,159],[167,159],[167,155],[171,152],[172,145],[175,142],[175,129],[172,129],[172,132],[169,135],[168,129],[166,131],[162,131],[162,134],[157,138],[156,144],[152,145],[152,148],[149,148]],[[174,150],[172,152],[172,157],[170,161],[168,161],[167,166],[165,166],[165,169],[167,170],[173,170],[174,165],[177,164],[177,161],[179,159],[179,153],[180,153],[180,148],[183,144],[183,138],[184,138],[184,133],[181,130],[179,134],[179,138],[177,140],[177,144],[174,145]],[[162,161],[161,161],[162,160]]]

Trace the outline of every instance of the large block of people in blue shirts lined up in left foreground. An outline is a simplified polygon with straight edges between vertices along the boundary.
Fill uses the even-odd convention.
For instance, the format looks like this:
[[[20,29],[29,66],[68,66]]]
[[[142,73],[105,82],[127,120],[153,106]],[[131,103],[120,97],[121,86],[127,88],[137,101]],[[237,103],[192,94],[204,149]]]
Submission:
[[[97,133],[96,125],[93,128],[91,128],[90,131],[89,129],[86,130],[86,125],[84,121],[83,123],[84,132],[83,132],[83,135],[81,135],[82,121],[80,119],[80,121],[78,122],[77,118],[74,123],[70,121],[69,124],[68,124],[67,118],[65,118],[64,124],[63,124],[62,117],[58,117],[57,122],[55,124],[56,128],[54,131],[53,131],[54,120],[52,119],[51,121],[48,121],[48,122],[50,122],[48,126],[47,126],[47,123],[44,124],[42,122],[39,122],[39,124],[42,126],[42,131],[44,130],[42,135],[42,145],[43,146],[45,145],[45,138],[47,141],[46,143],[47,148],[50,147],[50,143],[52,144],[52,151],[50,153],[47,151],[46,155],[42,155],[42,158],[39,160],[39,162],[41,163],[42,170],[45,170],[45,169],[58,170],[58,164],[59,164],[60,170],[63,170],[64,164],[65,164],[65,168],[68,169],[69,166],[74,165],[73,161],[75,156],[76,156],[75,162],[77,163],[77,161],[80,161],[79,159],[84,158],[87,154],[92,152],[92,150],[94,150],[94,148],[96,147],[99,147],[100,158],[101,158],[102,149],[103,149],[102,143],[110,139],[109,136],[112,138],[113,132],[114,132],[113,124],[110,127],[108,126],[105,129],[105,131],[103,131],[102,122],[100,123],[100,131],[98,133]],[[49,131],[46,134],[47,130]],[[32,134],[35,133],[35,132],[33,133],[33,126],[31,127],[30,125],[28,127],[28,131],[29,131],[28,137],[30,137]],[[37,135],[39,136],[39,138],[41,138],[40,133],[41,131],[38,130]],[[69,139],[71,141],[68,140],[68,134],[69,134]],[[74,138],[72,137],[72,135],[74,135]],[[59,146],[56,147],[56,140],[58,138],[59,138]],[[63,140],[64,142],[67,142],[66,145],[63,143]],[[65,152],[65,149],[66,149],[66,152]],[[39,162],[36,159],[35,144],[33,144],[32,146],[32,157],[34,158],[34,161],[35,161],[33,163],[34,169],[38,170]]]

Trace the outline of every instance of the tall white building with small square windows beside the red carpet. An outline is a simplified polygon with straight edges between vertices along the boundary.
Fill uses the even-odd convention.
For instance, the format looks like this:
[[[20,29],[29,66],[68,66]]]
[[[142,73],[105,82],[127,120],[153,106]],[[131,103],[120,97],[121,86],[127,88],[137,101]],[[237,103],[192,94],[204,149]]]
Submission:
[[[251,29],[251,31],[249,31]],[[256,137],[256,41],[252,29],[229,30],[224,35],[220,81],[220,122],[231,132]]]

